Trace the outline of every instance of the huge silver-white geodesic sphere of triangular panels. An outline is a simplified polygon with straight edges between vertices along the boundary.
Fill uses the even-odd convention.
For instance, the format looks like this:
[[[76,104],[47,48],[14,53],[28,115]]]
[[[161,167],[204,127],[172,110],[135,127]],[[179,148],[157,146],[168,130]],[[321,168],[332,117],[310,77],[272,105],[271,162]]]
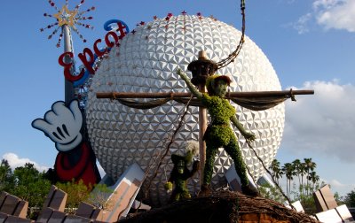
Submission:
[[[86,105],[86,119],[93,150],[100,165],[114,180],[133,162],[147,173],[143,190],[152,204],[165,204],[169,195],[163,185],[168,181],[170,155],[184,153],[184,142],[198,140],[198,107],[190,106],[185,123],[179,129],[170,150],[170,137],[177,128],[184,104],[170,101],[153,109],[134,109],[110,99],[96,98],[97,92],[188,92],[177,67],[187,72],[187,65],[198,52],[219,61],[235,50],[241,32],[221,21],[180,15],[154,19],[126,35],[121,45],[110,51],[94,75]],[[248,37],[233,63],[217,71],[233,78],[231,91],[280,90],[280,82],[269,60]],[[142,99],[137,99],[142,101]],[[146,99],[146,101],[149,101]],[[253,146],[269,166],[278,150],[284,127],[284,104],[266,111],[250,111],[234,104],[242,125],[256,135]],[[239,131],[240,147],[250,172],[258,179],[264,168]],[[159,165],[157,168],[157,165]],[[233,160],[220,149],[214,166],[212,186],[226,185],[225,172]],[[153,178],[154,173],[157,175]],[[188,181],[192,195],[199,190],[199,174]]]

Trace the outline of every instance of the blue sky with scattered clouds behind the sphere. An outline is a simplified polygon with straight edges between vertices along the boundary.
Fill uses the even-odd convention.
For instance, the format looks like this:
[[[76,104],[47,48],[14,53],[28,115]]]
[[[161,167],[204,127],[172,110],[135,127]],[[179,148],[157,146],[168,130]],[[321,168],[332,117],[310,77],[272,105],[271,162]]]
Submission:
[[[61,7],[64,0],[53,1]],[[69,10],[79,0],[69,0]],[[92,49],[104,37],[103,24],[121,19],[131,29],[140,21],[201,12],[241,28],[239,1],[224,0],[86,0],[93,30],[80,27],[87,42],[73,35],[75,54]],[[246,35],[270,60],[283,89],[314,89],[286,103],[285,129],[276,158],[281,165],[312,158],[321,181],[341,196],[355,189],[355,0],[246,1]],[[41,27],[55,19],[48,1],[4,1],[0,9],[0,158],[12,167],[35,163],[52,167],[58,151],[31,127],[51,104],[64,100],[64,76],[58,64],[58,35]]]

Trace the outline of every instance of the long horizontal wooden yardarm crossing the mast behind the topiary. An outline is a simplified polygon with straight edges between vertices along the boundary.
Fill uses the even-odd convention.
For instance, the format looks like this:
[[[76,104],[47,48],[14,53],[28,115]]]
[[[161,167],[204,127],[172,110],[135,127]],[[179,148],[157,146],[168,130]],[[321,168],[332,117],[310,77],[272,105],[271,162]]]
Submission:
[[[200,89],[200,88],[199,88]],[[296,95],[314,95],[314,90],[281,90],[281,91],[254,91],[254,92],[230,92],[230,97],[260,97],[260,96],[296,96]],[[98,92],[97,98],[167,98],[167,97],[190,97],[191,93],[137,93],[137,92]]]

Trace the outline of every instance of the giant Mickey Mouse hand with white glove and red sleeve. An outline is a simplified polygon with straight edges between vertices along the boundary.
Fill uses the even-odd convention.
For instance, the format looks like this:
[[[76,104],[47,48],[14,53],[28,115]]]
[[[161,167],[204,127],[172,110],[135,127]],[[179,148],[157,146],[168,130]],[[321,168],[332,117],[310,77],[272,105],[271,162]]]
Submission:
[[[53,181],[83,180],[89,187],[99,182],[95,154],[90,142],[83,140],[81,133],[83,115],[77,100],[72,101],[69,107],[61,101],[52,104],[51,110],[44,114],[43,119],[32,122],[32,127],[51,138],[59,150]]]

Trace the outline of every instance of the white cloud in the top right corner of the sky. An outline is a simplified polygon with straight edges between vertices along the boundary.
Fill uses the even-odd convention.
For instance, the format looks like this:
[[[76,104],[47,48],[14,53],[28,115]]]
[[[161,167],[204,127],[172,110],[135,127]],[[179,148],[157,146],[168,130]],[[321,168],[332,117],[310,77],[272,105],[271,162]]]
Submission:
[[[325,30],[334,28],[355,32],[355,0],[315,0],[311,12],[301,16],[292,27],[298,34],[304,34],[312,22]]]

